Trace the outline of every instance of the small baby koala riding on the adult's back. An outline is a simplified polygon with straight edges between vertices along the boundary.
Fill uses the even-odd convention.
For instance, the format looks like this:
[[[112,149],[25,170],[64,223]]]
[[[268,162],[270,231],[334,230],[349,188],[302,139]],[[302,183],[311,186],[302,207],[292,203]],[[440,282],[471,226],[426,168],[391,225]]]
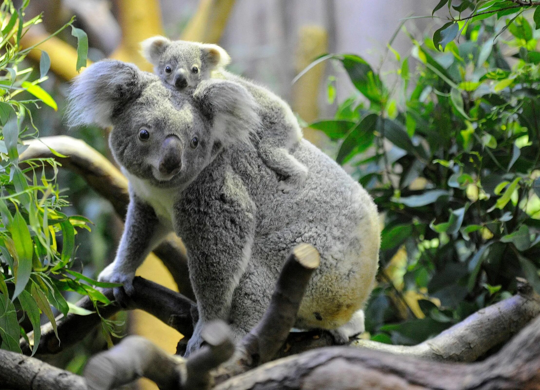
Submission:
[[[163,80],[177,88],[196,88],[203,80],[221,78],[240,83],[258,104],[261,127],[259,155],[281,177],[279,189],[288,192],[304,182],[307,169],[289,151],[301,140],[302,130],[291,107],[268,89],[225,71],[231,58],[218,45],[171,41],[152,37],[141,43],[144,57]]]

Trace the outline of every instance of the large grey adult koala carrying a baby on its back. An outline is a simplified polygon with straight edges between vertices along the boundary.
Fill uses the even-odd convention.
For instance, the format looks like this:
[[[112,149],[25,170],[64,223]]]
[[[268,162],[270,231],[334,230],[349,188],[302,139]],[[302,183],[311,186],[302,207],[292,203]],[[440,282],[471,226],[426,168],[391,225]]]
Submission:
[[[308,168],[306,182],[280,191],[252,137],[260,126],[255,104],[233,81],[206,80],[190,94],[120,61],[97,62],[71,87],[70,124],[113,126],[109,144],[129,179],[124,234],[99,278],[124,283],[129,294],[137,267],[175,231],[187,249],[200,316],[187,353],[213,319],[228,321],[236,337],[248,332],[300,242],[315,246],[321,263],[295,326],[333,330],[339,342],[362,331],[359,309],[379,253],[376,207],[305,140],[292,154]]]

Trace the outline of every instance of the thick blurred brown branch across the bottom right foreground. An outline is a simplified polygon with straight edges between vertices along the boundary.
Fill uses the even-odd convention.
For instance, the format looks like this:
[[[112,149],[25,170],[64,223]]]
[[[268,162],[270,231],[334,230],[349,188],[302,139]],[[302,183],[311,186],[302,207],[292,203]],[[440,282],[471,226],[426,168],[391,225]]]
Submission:
[[[327,347],[262,365],[215,389],[537,389],[538,379],[540,317],[481,363],[442,363],[364,348]]]

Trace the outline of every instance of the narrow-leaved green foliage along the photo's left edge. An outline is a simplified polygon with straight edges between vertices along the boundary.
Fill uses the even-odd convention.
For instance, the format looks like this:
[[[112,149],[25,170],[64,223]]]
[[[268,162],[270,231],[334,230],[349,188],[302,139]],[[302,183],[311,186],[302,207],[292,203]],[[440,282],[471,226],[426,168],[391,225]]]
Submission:
[[[28,148],[24,140],[38,134],[31,105],[39,108],[43,102],[57,109],[55,100],[39,86],[47,79],[49,55],[42,52],[39,78],[34,81],[30,81],[33,68],[24,66],[25,55],[34,46],[21,47],[21,38],[31,26],[42,22],[40,15],[24,21],[27,5],[28,1],[15,9],[11,0],[0,5],[0,338],[3,349],[19,352],[19,338],[26,337],[25,318],[34,331],[32,344],[38,345],[40,314],[48,317],[56,331],[51,307],[64,315],[73,310],[63,291],[88,295],[97,310],[98,303],[110,302],[95,287],[116,285],[95,282],[69,269],[75,254],[76,228],[90,229],[90,221],[62,212],[68,200],[56,183],[60,164],[55,159],[21,158]],[[71,22],[53,35],[69,25]],[[80,67],[86,64],[86,34],[75,27],[73,33],[82,43],[78,50]],[[29,98],[14,99],[21,93]],[[111,326],[104,322],[104,329]]]

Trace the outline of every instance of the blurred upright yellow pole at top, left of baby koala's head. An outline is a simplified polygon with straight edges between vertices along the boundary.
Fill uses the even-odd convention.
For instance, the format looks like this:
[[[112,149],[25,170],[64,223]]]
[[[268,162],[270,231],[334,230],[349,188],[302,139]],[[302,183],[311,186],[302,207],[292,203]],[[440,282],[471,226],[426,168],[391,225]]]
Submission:
[[[143,71],[152,71],[152,66],[139,53],[139,44],[146,38],[163,35],[159,1],[118,0],[118,10],[122,43],[111,58],[133,62]]]

